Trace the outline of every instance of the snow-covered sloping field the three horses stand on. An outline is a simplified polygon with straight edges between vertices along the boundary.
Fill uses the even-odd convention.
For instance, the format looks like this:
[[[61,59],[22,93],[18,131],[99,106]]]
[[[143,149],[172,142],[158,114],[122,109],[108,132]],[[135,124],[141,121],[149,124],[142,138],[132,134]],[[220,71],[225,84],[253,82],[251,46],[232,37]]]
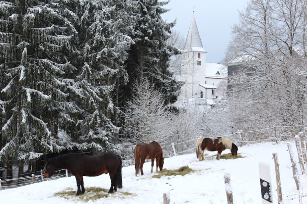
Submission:
[[[297,150],[291,143],[295,159]],[[163,176],[152,178],[150,162],[144,164],[144,175],[135,176],[134,166],[123,167],[123,188],[116,193],[104,194],[105,198],[93,197],[90,187],[110,188],[109,175],[83,177],[85,191],[82,196],[75,194],[75,177],[31,184],[15,189],[0,191],[1,204],[162,204],[163,193],[168,193],[171,204],[227,204],[224,175],[230,174],[234,204],[261,204],[259,162],[270,166],[273,203],[277,203],[275,165],[272,153],[277,153],[280,163],[280,178],[284,204],[307,204],[307,176],[300,170],[300,192],[293,179],[290,154],[286,143],[264,143],[239,147],[238,153],[244,158],[216,160],[217,152],[205,151],[205,161],[198,161],[196,153],[165,158],[164,168],[178,169],[188,165],[194,170],[185,176]],[[225,150],[223,153],[230,153]],[[222,155],[223,155],[222,153]],[[154,168],[155,169],[155,168]],[[63,194],[63,195],[60,195]],[[97,193],[96,193],[97,194]],[[90,197],[90,198],[88,198]],[[303,199],[303,200],[302,200]]]

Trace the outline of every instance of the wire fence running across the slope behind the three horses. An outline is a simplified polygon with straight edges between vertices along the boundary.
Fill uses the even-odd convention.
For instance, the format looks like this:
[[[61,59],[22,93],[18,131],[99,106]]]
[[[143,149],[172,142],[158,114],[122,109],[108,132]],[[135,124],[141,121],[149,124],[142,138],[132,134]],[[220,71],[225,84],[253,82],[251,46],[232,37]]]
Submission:
[[[248,130],[248,131],[238,130],[235,133],[231,133],[228,135],[220,135],[218,137],[228,138],[233,143],[240,144],[240,146],[249,145],[253,143],[268,142],[268,141],[278,143],[280,141],[295,140],[295,136],[298,135],[299,133],[285,134],[284,132],[285,128],[290,128],[290,127],[291,128],[300,127],[300,129],[302,129],[303,126],[283,126],[283,127],[274,126],[274,127],[263,128],[263,129],[258,129],[258,130]],[[305,132],[307,132],[307,128],[305,128]],[[196,152],[196,145],[195,145],[196,141],[201,137],[202,136],[199,136],[198,138],[192,138],[192,139],[178,142],[178,143],[162,144],[161,148],[163,150],[164,157],[172,157],[174,155],[195,153]],[[216,137],[209,137],[209,138],[216,138]],[[124,167],[134,165],[134,146],[132,145],[128,149],[129,151],[126,151],[122,153],[123,155],[121,155]],[[0,190],[16,188],[16,187],[20,187],[20,186],[24,186],[28,184],[34,184],[37,182],[43,182],[47,180],[54,180],[58,178],[71,176],[65,169],[56,171],[56,174],[57,175],[53,177],[45,178],[43,175],[43,170],[40,170],[37,172],[31,172],[31,175],[27,175],[23,177],[9,178],[5,180],[0,179]]]

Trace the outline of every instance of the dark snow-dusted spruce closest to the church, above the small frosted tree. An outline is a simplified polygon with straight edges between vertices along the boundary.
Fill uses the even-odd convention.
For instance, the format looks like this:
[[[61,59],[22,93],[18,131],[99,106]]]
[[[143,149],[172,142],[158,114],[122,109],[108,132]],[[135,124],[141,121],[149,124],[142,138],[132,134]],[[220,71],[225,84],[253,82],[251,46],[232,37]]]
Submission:
[[[163,94],[165,104],[173,103],[177,100],[181,84],[173,79],[173,73],[168,70],[170,57],[179,50],[166,42],[174,26],[174,23],[166,23],[160,16],[168,11],[161,7],[167,1],[136,2],[134,12],[137,22],[131,36],[135,44],[131,45],[126,61],[129,83],[125,87],[123,101],[131,99],[133,84],[146,77]]]

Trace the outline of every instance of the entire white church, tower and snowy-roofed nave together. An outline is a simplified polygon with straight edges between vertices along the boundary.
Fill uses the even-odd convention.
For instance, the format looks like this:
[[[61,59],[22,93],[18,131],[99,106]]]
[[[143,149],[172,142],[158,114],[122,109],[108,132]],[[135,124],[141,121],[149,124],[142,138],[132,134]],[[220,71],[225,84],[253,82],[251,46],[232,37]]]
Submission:
[[[195,18],[193,16],[181,58],[179,99],[217,99],[226,96],[227,66],[207,63]]]

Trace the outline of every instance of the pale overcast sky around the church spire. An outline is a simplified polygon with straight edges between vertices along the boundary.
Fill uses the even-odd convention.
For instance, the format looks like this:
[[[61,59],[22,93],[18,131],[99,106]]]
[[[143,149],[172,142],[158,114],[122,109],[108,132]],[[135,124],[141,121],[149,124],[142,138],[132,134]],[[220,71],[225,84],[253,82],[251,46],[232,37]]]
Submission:
[[[162,0],[160,0],[162,1]],[[221,62],[231,40],[231,27],[238,23],[238,11],[244,11],[249,0],[170,0],[171,8],[162,17],[167,22],[177,19],[174,30],[186,39],[193,17],[207,51],[206,61]]]

